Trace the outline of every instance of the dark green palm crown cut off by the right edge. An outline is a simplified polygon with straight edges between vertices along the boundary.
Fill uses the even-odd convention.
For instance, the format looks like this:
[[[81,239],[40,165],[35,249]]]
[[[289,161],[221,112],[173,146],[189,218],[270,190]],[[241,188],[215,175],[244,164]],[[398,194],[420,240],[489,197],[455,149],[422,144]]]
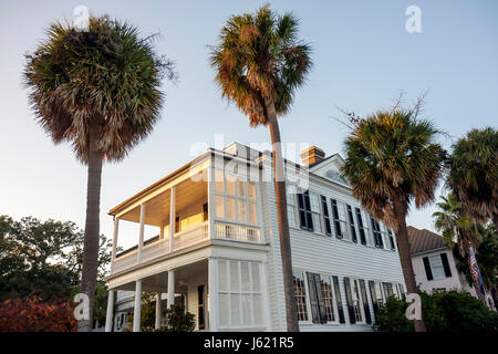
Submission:
[[[477,221],[489,218],[498,229],[498,131],[471,129],[454,145],[448,185]]]

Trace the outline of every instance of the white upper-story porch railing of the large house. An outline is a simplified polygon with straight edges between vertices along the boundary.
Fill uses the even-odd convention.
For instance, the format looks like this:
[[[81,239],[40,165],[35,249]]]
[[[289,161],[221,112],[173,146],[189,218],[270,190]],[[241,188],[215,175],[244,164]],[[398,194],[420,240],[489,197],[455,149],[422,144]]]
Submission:
[[[177,251],[209,238],[208,222],[199,223],[190,229],[174,235],[173,250],[169,249],[169,237],[159,239],[155,237],[144,242],[142,248],[141,260],[138,260],[137,247],[133,247],[121,254],[117,254],[112,264],[112,272],[117,272],[135,264],[153,260],[157,257],[166,254],[170,251]],[[261,242],[259,228],[248,227],[243,225],[215,221],[215,229],[211,235],[212,239],[230,239],[236,241],[245,241],[252,243]]]

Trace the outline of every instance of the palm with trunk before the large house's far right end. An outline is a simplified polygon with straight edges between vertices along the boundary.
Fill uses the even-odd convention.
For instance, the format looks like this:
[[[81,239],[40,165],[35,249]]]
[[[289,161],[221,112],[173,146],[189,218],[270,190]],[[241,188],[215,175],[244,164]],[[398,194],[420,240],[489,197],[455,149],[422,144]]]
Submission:
[[[418,112],[418,104],[409,111],[396,106],[351,119],[353,131],[345,140],[342,168],[364,208],[396,232],[408,293],[416,293],[417,287],[406,215],[413,200],[418,208],[434,199],[444,153],[434,142],[437,131],[430,122],[417,119]],[[425,331],[423,320],[415,320],[415,330]]]

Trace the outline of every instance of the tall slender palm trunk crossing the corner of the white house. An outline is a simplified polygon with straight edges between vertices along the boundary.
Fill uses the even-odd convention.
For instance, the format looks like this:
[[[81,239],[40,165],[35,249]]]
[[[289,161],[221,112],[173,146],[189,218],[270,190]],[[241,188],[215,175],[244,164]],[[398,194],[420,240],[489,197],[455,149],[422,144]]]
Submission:
[[[292,256],[289,235],[289,220],[287,216],[287,192],[281,145],[282,143],[280,138],[280,128],[277,121],[274,104],[272,102],[266,102],[266,108],[273,153],[274,190],[277,199],[277,218],[279,225],[280,256],[282,259],[287,331],[299,332],[298,313],[294,299],[294,284],[292,280]]]

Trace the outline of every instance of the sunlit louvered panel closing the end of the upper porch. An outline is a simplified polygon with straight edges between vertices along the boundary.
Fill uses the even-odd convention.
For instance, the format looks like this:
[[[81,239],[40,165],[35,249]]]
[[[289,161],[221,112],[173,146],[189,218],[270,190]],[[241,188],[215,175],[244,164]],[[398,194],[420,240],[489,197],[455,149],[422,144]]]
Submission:
[[[215,169],[215,216],[230,221],[257,223],[255,183]]]

